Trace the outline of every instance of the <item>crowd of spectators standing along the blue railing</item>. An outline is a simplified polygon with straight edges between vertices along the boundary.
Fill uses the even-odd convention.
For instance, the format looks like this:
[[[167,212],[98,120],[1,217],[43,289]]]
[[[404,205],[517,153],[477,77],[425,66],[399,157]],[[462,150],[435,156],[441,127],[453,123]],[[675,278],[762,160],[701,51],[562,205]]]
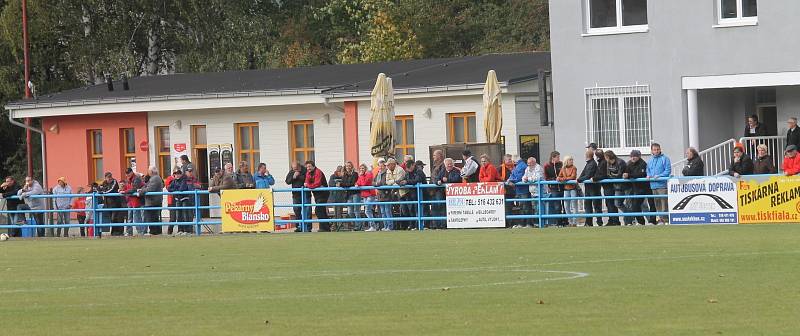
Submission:
[[[754,124],[755,123],[755,124]],[[787,146],[782,162],[786,175],[800,173],[800,130],[797,120],[788,121]],[[748,122],[745,132],[758,131],[757,119]],[[756,134],[754,133],[754,134]],[[755,153],[746,153],[745,147],[737,144],[733,148],[733,159],[727,173],[733,177],[753,174],[775,174],[776,162],[770,156],[770,148],[758,144]],[[524,219],[507,221],[510,228],[528,228],[538,225],[537,214],[564,214],[564,218],[544,219],[547,226],[619,226],[668,224],[667,216],[643,216],[646,213],[666,213],[667,182],[663,178],[672,176],[672,163],[662,153],[661,146],[650,146],[649,160],[642,158],[639,150],[625,153],[628,161],[612,150],[602,150],[594,143],[583,153],[583,167],[576,166],[575,157],[564,156],[554,151],[545,162],[535,157],[521,158],[506,154],[501,162],[492,162],[488,155],[477,158],[465,150],[460,158],[461,167],[456,167],[453,158],[447,158],[441,150],[433,152],[431,167],[426,175],[426,164],[405,156],[398,162],[395,158],[378,159],[373,165],[345,162],[327,176],[314,161],[292,162],[284,182],[294,188],[291,192],[293,219],[308,222],[320,221],[319,231],[392,231],[418,229],[417,212],[422,211],[424,225],[429,229],[446,228],[441,217],[446,215],[445,190],[441,187],[451,183],[503,182],[506,184],[506,213],[523,215]],[[706,169],[695,148],[688,148],[682,169],[683,176],[704,176]],[[35,235],[39,237],[67,237],[68,228],[59,228],[45,223],[45,215],[52,213],[52,224],[115,223],[127,225],[106,226],[112,236],[160,235],[167,227],[168,235],[194,233],[195,190],[200,183],[194,165],[184,155],[180,158],[172,175],[159,176],[156,167],[147,174],[138,174],[132,168],[116,179],[111,172],[104,175],[100,183],[93,183],[74,190],[66,178],[57,180],[46,190],[32,177],[18,183],[6,177],[0,192],[7,210],[25,213],[7,213],[7,224],[38,224]],[[632,180],[636,181],[624,181]],[[598,183],[613,180],[610,183]],[[539,183],[546,181],[546,183]],[[418,185],[426,185],[417,189]],[[252,173],[246,162],[238,169],[225,164],[216,169],[210,179],[208,191],[220,193],[227,189],[269,189],[275,178],[260,163]],[[328,187],[337,187],[330,189]],[[299,189],[299,190],[298,190]],[[164,192],[169,192],[164,195]],[[98,197],[75,196],[94,193]],[[52,197],[32,197],[51,194]],[[577,197],[587,199],[574,199]],[[610,197],[613,196],[613,197]],[[169,222],[162,223],[162,205],[166,199]],[[92,204],[97,202],[97,204]],[[579,204],[581,203],[581,204]],[[540,208],[541,207],[541,208]],[[103,211],[102,209],[112,209]],[[581,213],[582,209],[582,213]],[[30,211],[30,212],[29,212]],[[625,215],[626,213],[633,215]],[[620,219],[622,218],[622,219]],[[175,223],[175,224],[172,224]],[[296,231],[309,231],[311,225],[297,225]],[[99,236],[91,228],[81,227],[80,236]],[[98,231],[100,231],[98,229]],[[18,228],[9,229],[11,236],[21,236]]]

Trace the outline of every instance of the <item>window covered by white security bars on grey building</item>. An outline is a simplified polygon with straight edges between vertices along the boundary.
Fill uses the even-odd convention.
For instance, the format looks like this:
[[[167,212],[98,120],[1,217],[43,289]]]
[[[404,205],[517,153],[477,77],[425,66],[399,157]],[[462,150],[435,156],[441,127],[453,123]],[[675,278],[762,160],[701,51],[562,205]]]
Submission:
[[[586,106],[587,142],[603,149],[649,151],[649,86],[586,89]]]

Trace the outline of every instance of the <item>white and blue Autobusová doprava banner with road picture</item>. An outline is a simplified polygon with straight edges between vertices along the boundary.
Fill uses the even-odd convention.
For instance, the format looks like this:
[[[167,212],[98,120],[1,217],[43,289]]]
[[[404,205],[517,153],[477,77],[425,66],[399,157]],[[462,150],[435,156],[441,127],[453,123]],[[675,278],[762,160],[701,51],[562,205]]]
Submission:
[[[670,224],[736,224],[736,179],[730,176],[670,179]]]

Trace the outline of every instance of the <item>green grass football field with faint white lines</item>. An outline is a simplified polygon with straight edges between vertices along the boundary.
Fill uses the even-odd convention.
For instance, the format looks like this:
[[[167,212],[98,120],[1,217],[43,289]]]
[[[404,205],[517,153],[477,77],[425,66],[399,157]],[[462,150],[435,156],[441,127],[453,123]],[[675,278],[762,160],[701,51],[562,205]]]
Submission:
[[[0,243],[2,335],[796,335],[800,225]]]

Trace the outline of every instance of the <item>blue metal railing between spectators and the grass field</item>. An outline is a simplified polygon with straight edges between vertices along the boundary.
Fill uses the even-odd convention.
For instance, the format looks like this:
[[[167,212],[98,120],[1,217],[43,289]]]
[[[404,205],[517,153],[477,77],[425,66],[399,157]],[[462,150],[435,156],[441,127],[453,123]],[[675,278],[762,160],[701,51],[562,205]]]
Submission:
[[[697,178],[697,177],[692,177]],[[654,181],[667,181],[669,178],[658,178],[658,179],[617,179],[617,180],[603,180],[599,182],[584,182],[584,183],[577,183],[576,181],[567,181],[567,182],[556,182],[556,181],[537,181],[533,183],[517,183],[515,185],[507,184],[506,188],[510,188],[509,193],[514,194],[514,197],[506,197],[506,209],[513,209],[514,205],[525,205],[524,202],[530,202],[531,207],[529,208],[530,211],[523,211],[519,210],[517,213],[506,213],[506,220],[527,220],[532,221],[536,220],[538,222],[538,227],[543,228],[545,227],[545,222],[549,221],[555,223],[559,219],[565,218],[600,218],[600,217],[609,217],[609,218],[618,218],[619,217],[655,217],[655,216],[667,216],[667,211],[655,211],[655,209],[650,209],[648,212],[638,211],[638,212],[624,212],[620,211],[617,213],[604,213],[602,210],[600,212],[595,213],[549,213],[547,210],[557,210],[563,209],[563,207],[552,207],[551,205],[555,202],[559,202],[559,204],[563,202],[580,202],[580,201],[595,201],[595,200],[605,200],[608,202],[609,200],[614,201],[617,199],[658,199],[658,198],[666,198],[667,195],[651,195],[651,194],[626,194],[626,195],[608,195],[608,196],[577,196],[577,197],[565,197],[565,196],[557,196],[551,197],[553,193],[549,193],[546,189],[550,186],[554,185],[590,185],[590,184],[599,184],[607,186],[609,184],[630,184],[630,183],[644,183],[644,182],[654,182]],[[515,188],[517,186],[534,186],[536,193],[533,195],[529,195],[527,193],[522,193],[518,195],[516,193]],[[416,229],[418,230],[425,230],[426,223],[429,223],[428,227],[431,226],[439,226],[440,224],[444,223],[447,220],[446,217],[446,210],[445,204],[446,200],[444,197],[444,188],[443,185],[435,185],[435,184],[418,184],[418,185],[411,185],[411,186],[381,186],[381,187],[352,187],[352,188],[339,188],[339,187],[326,187],[326,188],[283,188],[283,189],[273,189],[273,192],[276,194],[281,193],[299,193],[299,202],[294,203],[286,203],[276,201],[274,204],[275,209],[296,209],[300,208],[299,211],[299,218],[295,219],[281,219],[278,216],[275,216],[275,224],[276,225],[286,225],[286,224],[294,224],[295,227],[298,228],[299,231],[310,231],[311,224],[316,222],[320,224],[327,225],[329,223],[357,223],[357,222],[371,222],[373,223],[373,227],[377,226],[377,224],[384,224],[384,227],[388,226],[387,224],[393,224],[396,222],[408,222],[416,223]],[[408,194],[412,195],[411,197],[406,196],[404,199],[400,199],[399,193],[400,190],[404,189]],[[530,189],[530,188],[528,188]],[[323,203],[317,201],[316,198],[320,192],[340,192],[340,193],[353,193],[361,191],[368,191],[368,190],[375,190],[379,194],[383,194],[386,197],[383,197],[381,201],[360,201],[360,202],[327,202],[327,200]],[[434,190],[434,193],[430,193],[429,191]],[[529,191],[529,190],[528,190]],[[223,191],[224,192],[224,191]],[[317,193],[314,195],[313,193]],[[20,228],[35,228],[35,229],[51,229],[51,228],[87,228],[91,227],[95,234],[99,231],[98,229],[108,228],[108,227],[119,227],[119,226],[133,226],[133,227],[142,227],[142,226],[163,226],[163,225],[191,225],[194,227],[194,233],[196,235],[201,234],[201,228],[204,225],[221,225],[222,222],[219,218],[203,218],[201,216],[201,210],[211,210],[211,209],[220,209],[220,206],[204,206],[200,205],[200,196],[201,195],[208,195],[209,192],[205,190],[195,190],[195,191],[187,191],[187,192],[154,192],[154,193],[147,193],[146,196],[167,196],[167,195],[191,195],[190,197],[193,199],[193,204],[189,206],[157,206],[157,207],[140,207],[140,208],[104,208],[98,206],[98,200],[102,197],[125,197],[130,196],[128,194],[101,194],[101,193],[91,193],[91,194],[66,194],[66,195],[33,195],[30,196],[31,198],[45,198],[45,199],[55,199],[55,198],[75,198],[75,197],[86,197],[87,203],[91,203],[91,207],[88,209],[44,209],[44,210],[0,210],[0,214],[6,215],[21,215],[21,216],[28,216],[30,217],[31,214],[52,214],[52,213],[78,213],[84,212],[87,214],[87,217],[91,216],[92,223],[90,224],[53,224],[53,225],[42,225],[43,223],[37,223],[37,225],[7,225],[3,224],[0,225],[0,229],[20,229]],[[408,195],[406,194],[406,195]],[[555,195],[558,195],[557,193]],[[520,197],[521,196],[521,197]],[[520,198],[516,198],[520,197]],[[347,199],[347,198],[346,198]],[[144,199],[142,198],[142,201]],[[535,206],[535,210],[533,210],[533,205]],[[381,207],[381,206],[388,206],[391,216],[382,216],[380,209],[378,211],[369,211],[369,213],[376,214],[378,216],[374,217],[367,217],[361,216],[362,209],[364,209],[365,214],[368,212],[366,207]],[[394,216],[394,208],[399,206],[400,209],[400,216]],[[403,206],[408,206],[406,209],[402,209]],[[313,218],[311,214],[311,210],[315,207],[323,207],[323,213],[328,213],[328,207],[353,207],[355,213],[348,213],[350,218],[326,218],[327,216],[322,216],[322,218]],[[413,209],[414,211],[411,211]],[[523,207],[523,209],[525,209]],[[175,221],[175,222],[161,222],[161,221],[148,221],[143,220],[141,223],[131,223],[131,222],[105,222],[103,220],[104,213],[113,213],[117,211],[129,211],[129,210],[137,210],[137,211],[157,211],[158,212],[158,219],[161,219],[161,212],[163,210],[169,211],[187,211],[191,212],[193,217],[189,221]],[[621,209],[624,210],[624,209]],[[523,211],[523,212],[520,212]],[[526,213],[527,212],[527,213]],[[298,211],[295,211],[298,213]],[[184,217],[181,217],[184,218]],[[442,225],[444,227],[444,225]]]

